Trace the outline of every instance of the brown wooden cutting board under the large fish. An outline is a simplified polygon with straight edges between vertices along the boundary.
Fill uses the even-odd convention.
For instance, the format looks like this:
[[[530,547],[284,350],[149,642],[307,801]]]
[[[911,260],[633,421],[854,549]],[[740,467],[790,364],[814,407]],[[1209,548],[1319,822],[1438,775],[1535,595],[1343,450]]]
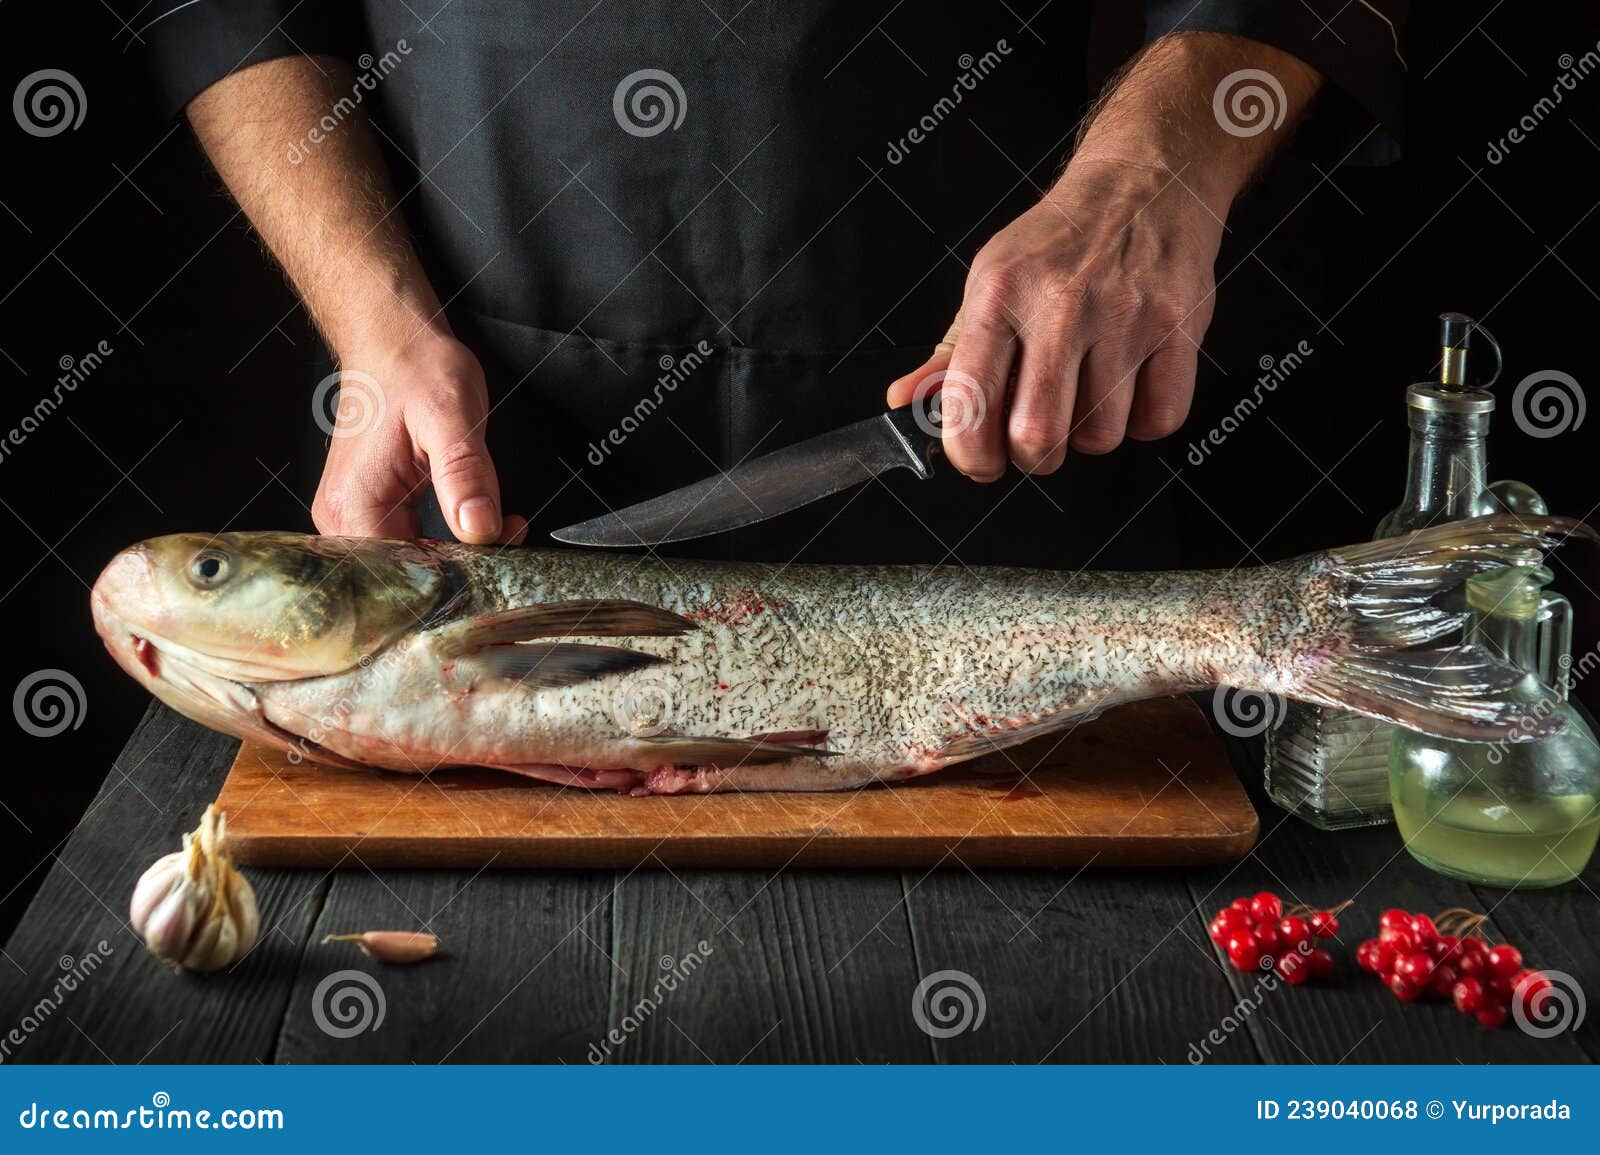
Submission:
[[[1258,832],[1187,697],[851,793],[630,798],[488,769],[291,765],[246,742],[218,806],[240,862],[282,867],[1194,865]]]

